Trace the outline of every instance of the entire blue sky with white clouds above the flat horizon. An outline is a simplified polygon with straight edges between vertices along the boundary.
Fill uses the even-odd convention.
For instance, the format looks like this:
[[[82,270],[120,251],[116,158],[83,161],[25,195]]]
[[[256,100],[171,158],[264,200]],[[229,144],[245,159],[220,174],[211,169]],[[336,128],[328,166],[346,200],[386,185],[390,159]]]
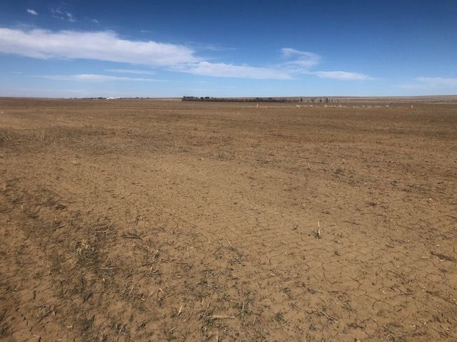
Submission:
[[[457,1],[0,2],[0,96],[457,94]]]

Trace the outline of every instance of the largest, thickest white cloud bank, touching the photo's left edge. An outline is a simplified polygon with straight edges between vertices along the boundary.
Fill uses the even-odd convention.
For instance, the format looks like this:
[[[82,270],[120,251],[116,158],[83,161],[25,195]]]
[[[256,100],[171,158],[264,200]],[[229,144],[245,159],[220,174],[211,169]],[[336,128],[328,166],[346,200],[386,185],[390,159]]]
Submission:
[[[33,58],[82,58],[147,66],[196,63],[185,46],[156,41],[130,41],[111,31],[79,32],[0,28],[0,53]]]

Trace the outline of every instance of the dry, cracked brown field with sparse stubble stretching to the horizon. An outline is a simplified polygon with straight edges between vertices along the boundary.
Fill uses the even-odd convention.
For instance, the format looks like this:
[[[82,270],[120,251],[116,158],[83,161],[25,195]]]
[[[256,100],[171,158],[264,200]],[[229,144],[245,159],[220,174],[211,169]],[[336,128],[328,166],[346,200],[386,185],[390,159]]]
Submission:
[[[456,341],[457,105],[0,98],[0,341]]]

